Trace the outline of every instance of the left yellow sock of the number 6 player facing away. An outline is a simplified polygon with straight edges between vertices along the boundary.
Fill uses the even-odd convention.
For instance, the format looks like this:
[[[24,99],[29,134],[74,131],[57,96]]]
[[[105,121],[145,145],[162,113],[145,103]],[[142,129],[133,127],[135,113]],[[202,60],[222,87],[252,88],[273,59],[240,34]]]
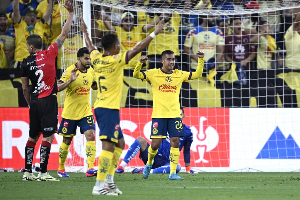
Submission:
[[[98,172],[97,181],[105,181],[108,169],[113,158],[113,153],[110,151],[102,150],[98,159]]]

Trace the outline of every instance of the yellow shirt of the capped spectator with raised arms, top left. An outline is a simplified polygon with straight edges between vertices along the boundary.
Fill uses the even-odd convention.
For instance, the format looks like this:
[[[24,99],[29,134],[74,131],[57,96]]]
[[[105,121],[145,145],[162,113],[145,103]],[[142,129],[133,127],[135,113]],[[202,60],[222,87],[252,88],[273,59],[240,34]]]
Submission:
[[[15,48],[15,61],[22,62],[23,58],[27,58],[30,54],[27,50],[26,39],[31,33],[27,30],[26,22],[21,19],[17,24],[13,25],[15,27],[16,36],[16,48]],[[44,36],[44,23],[42,20],[38,20],[35,23],[35,28],[32,29],[32,34],[38,34],[42,37]]]

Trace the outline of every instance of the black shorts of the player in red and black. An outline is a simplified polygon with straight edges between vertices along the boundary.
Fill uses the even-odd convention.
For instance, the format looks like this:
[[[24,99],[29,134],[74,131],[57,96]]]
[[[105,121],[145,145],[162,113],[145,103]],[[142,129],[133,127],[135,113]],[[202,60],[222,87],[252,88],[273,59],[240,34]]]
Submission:
[[[58,105],[55,95],[31,100],[29,109],[29,136],[35,138],[43,133],[47,138],[57,133]]]

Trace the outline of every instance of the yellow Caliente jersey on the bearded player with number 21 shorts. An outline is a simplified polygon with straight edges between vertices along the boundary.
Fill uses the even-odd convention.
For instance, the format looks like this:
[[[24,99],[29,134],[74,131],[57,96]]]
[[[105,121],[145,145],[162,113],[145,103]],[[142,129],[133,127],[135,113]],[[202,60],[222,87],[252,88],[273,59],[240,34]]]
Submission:
[[[71,71],[76,64],[68,67],[58,82],[66,82],[70,79]],[[90,104],[90,89],[95,84],[95,72],[89,68],[85,72],[78,70],[79,76],[65,89],[66,98],[61,117],[65,119],[79,120],[86,116],[93,115]]]

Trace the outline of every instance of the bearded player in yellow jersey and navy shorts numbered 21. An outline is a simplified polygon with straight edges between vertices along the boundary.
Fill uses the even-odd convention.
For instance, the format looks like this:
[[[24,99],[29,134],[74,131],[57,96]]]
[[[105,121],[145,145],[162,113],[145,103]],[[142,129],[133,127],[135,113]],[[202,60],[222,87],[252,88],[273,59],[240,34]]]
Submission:
[[[59,177],[70,177],[65,169],[64,163],[67,160],[69,146],[73,136],[76,135],[77,126],[80,127],[81,134],[85,135],[88,170],[86,177],[97,175],[94,169],[96,157],[95,145],[95,120],[91,111],[90,88],[97,90],[95,72],[91,67],[90,53],[86,47],[80,48],[77,52],[78,62],[68,67],[58,81],[58,89],[66,89],[66,99],[64,109],[61,114],[61,123],[58,134],[63,136],[59,148],[59,165],[57,175]],[[76,72],[78,74],[76,75]]]

